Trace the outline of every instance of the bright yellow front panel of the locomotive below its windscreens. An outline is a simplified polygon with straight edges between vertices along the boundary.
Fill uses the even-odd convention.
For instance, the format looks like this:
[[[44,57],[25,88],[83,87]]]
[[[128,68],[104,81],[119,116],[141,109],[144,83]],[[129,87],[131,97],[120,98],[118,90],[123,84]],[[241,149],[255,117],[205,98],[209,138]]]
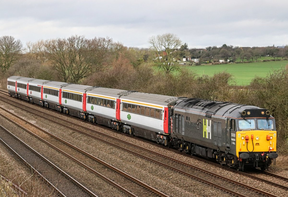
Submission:
[[[239,152],[276,152],[276,131],[249,130],[236,132],[236,156]]]

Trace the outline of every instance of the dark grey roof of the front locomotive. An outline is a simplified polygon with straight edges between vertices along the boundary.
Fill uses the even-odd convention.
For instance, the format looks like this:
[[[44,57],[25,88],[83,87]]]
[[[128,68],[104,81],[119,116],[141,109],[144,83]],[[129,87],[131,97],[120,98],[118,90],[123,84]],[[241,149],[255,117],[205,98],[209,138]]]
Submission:
[[[241,112],[244,110],[260,110],[261,108],[251,105],[236,104],[231,102],[220,102],[190,98],[185,99],[175,105],[175,108],[185,109],[205,115],[207,118],[218,117],[233,117],[241,118]],[[257,117],[262,117],[261,115]],[[269,116],[271,117],[271,116]]]

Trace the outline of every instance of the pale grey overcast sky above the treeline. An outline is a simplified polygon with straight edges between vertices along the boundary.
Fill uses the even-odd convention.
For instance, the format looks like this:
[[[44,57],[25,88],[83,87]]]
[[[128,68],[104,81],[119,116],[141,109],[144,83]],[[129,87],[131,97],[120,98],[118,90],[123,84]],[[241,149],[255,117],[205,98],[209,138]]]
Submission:
[[[148,47],[149,37],[174,33],[189,48],[284,46],[288,1],[2,0],[0,36],[36,42],[85,35]]]

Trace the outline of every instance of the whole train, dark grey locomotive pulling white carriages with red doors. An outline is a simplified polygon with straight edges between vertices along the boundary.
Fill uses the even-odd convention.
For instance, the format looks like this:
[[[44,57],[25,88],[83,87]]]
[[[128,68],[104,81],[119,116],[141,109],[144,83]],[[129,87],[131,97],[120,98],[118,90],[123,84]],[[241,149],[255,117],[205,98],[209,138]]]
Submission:
[[[278,157],[275,119],[256,106],[20,76],[9,77],[7,89],[10,96],[238,170],[265,170]]]

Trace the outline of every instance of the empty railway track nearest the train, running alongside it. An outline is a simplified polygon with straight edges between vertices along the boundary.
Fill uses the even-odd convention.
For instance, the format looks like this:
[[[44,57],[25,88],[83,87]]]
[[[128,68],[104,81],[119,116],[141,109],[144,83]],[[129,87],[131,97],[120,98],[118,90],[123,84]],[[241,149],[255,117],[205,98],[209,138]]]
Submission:
[[[26,106],[26,107],[27,107],[27,106]],[[24,108],[22,108],[22,109],[25,110]],[[37,109],[34,109],[34,108],[33,108],[33,110],[36,110],[36,111],[37,111]],[[31,109],[28,110],[28,111],[30,112]],[[38,114],[37,114],[37,113],[34,113],[34,114],[35,114],[35,115],[36,115],[36,114],[39,115],[39,112],[44,113],[42,110],[38,110]],[[53,115],[46,113],[46,114],[45,114],[45,117],[43,117],[43,118],[47,118],[47,116],[53,117]],[[55,118],[56,118],[56,117],[55,117]],[[57,117],[57,119],[60,119],[60,117]],[[57,122],[57,121],[55,121],[55,120],[51,120],[51,119],[50,119],[50,121],[56,122],[56,123],[58,123],[58,124],[65,125],[65,124],[60,123],[60,122]],[[64,121],[67,122],[67,120],[64,120]],[[71,121],[70,121],[69,123],[71,123],[71,124],[73,124],[73,125],[76,125],[77,127],[82,127],[81,125],[72,123]],[[66,126],[69,127],[70,129],[77,130],[77,129],[75,129],[75,127],[72,128],[72,127],[70,127],[70,126],[68,126],[68,125],[66,125]],[[86,129],[86,130],[90,130],[90,131],[93,132],[93,133],[97,132],[96,130],[92,130],[92,129],[89,129],[89,128],[86,128],[86,127],[82,127],[82,128],[84,128],[84,129]],[[93,136],[93,135],[91,135],[91,134],[85,133],[85,132],[83,132],[83,131],[78,130],[78,132],[81,132],[81,133],[83,133],[83,134],[85,134],[85,135],[87,135],[87,136],[90,136],[90,137],[94,138],[94,139],[103,141],[103,139],[98,138],[98,137],[96,137],[96,136]],[[185,162],[181,162],[181,161],[179,161],[179,160],[175,160],[175,159],[173,159],[173,158],[171,158],[171,157],[167,157],[167,156],[165,156],[165,155],[161,155],[160,153],[156,153],[156,152],[154,152],[154,151],[145,149],[145,148],[143,148],[143,147],[138,147],[137,145],[130,144],[130,143],[126,142],[126,141],[123,141],[123,140],[122,140],[122,142],[121,142],[121,140],[118,139],[118,138],[113,138],[113,137],[111,137],[111,136],[107,136],[106,134],[103,134],[103,133],[101,133],[101,132],[97,132],[97,133],[105,136],[106,138],[110,138],[111,140],[109,140],[109,141],[113,141],[113,142],[117,141],[117,142],[120,142],[120,144],[121,144],[121,143],[122,143],[123,145],[125,144],[125,146],[127,146],[127,145],[130,146],[130,148],[124,148],[124,147],[121,147],[121,146],[123,146],[123,145],[117,145],[117,144],[115,144],[115,143],[108,142],[107,140],[104,140],[104,141],[107,141],[110,145],[119,147],[119,148],[121,148],[121,149],[123,149],[123,150],[125,150],[125,151],[131,152],[131,153],[136,154],[136,155],[138,155],[138,156],[141,156],[141,157],[143,157],[143,158],[145,158],[145,159],[147,159],[147,160],[150,160],[150,161],[152,161],[152,162],[158,163],[158,164],[160,164],[160,165],[162,165],[162,166],[165,166],[166,168],[170,168],[170,169],[172,169],[172,170],[175,170],[175,171],[177,171],[177,172],[180,172],[180,173],[182,173],[182,174],[185,174],[186,176],[189,176],[189,177],[191,177],[191,178],[197,179],[197,180],[202,181],[202,182],[204,182],[204,183],[207,183],[207,184],[209,184],[209,185],[213,185],[214,187],[217,187],[217,188],[219,188],[219,189],[221,189],[221,190],[223,190],[223,191],[229,192],[230,194],[234,194],[234,195],[236,195],[236,196],[245,196],[245,195],[247,195],[247,196],[251,196],[251,195],[256,195],[256,196],[258,196],[258,195],[275,196],[275,195],[270,194],[270,193],[268,193],[268,192],[259,190],[259,189],[257,189],[257,188],[253,188],[253,187],[251,187],[251,186],[249,186],[249,185],[245,185],[245,184],[243,184],[243,183],[234,181],[234,180],[232,180],[232,179],[228,179],[228,178],[226,178],[226,177],[217,175],[217,174],[215,174],[215,173],[213,173],[213,172],[205,171],[205,170],[202,169],[202,168],[198,168],[198,167],[196,167],[196,166],[192,166],[192,165],[187,164],[187,163],[185,163]],[[130,151],[130,149],[135,149],[135,147],[137,147],[137,150],[138,150],[138,149],[141,150],[140,153],[139,153],[139,152],[137,153],[137,152]],[[143,152],[146,152],[146,153],[143,153]],[[151,154],[151,153],[152,153],[152,154]],[[144,154],[146,154],[146,155],[148,155],[148,156],[145,156]],[[156,156],[154,156],[154,155],[156,155]],[[154,158],[152,158],[152,157],[154,157]],[[197,175],[198,175],[198,176],[197,176]],[[206,176],[206,177],[205,177],[205,176]],[[213,179],[212,179],[211,177],[213,177]],[[221,181],[219,181],[220,179],[221,179]],[[211,181],[207,181],[207,180],[211,180]],[[218,181],[217,181],[217,180],[218,180]],[[223,180],[224,180],[224,181],[223,181]],[[223,186],[214,184],[214,183],[212,183],[212,182],[221,182]],[[240,189],[239,189],[239,185],[241,186]],[[235,188],[234,190],[235,190],[235,191],[238,191],[238,192],[235,192],[235,191],[233,191],[233,190],[230,190],[229,188]],[[244,194],[244,195],[243,195],[243,194]]]

